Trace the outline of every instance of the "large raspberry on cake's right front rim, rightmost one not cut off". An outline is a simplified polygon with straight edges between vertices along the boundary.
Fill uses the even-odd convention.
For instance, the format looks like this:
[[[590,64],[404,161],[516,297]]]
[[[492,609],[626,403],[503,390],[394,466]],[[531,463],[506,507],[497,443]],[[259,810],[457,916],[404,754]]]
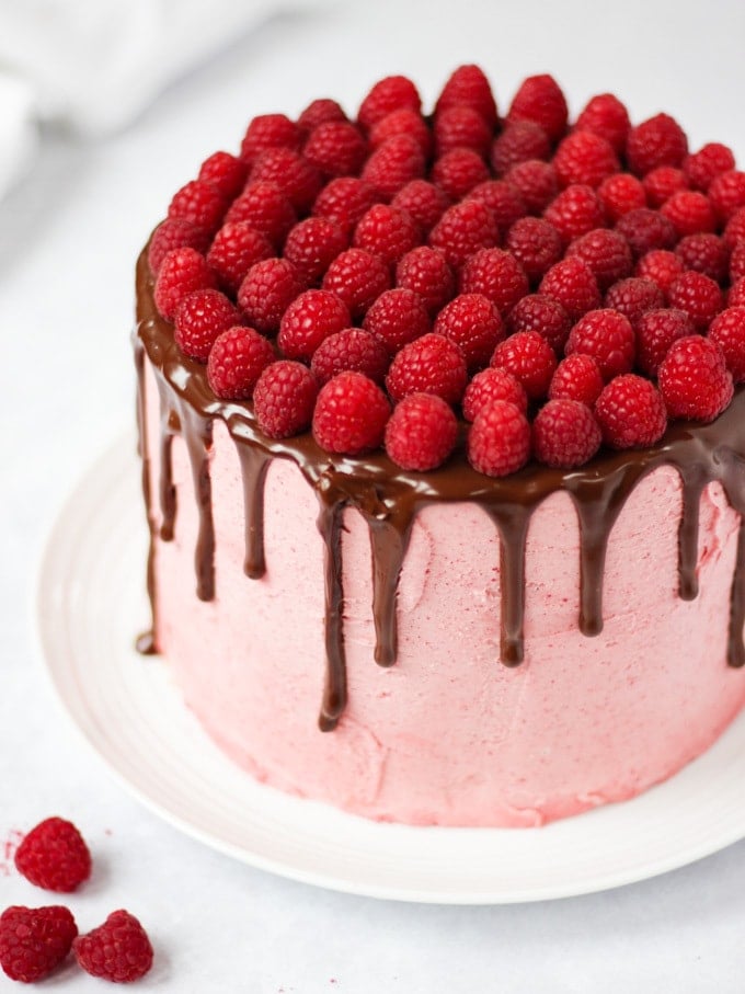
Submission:
[[[658,379],[667,413],[686,421],[713,421],[734,392],[719,344],[698,334],[673,342],[660,364]]]

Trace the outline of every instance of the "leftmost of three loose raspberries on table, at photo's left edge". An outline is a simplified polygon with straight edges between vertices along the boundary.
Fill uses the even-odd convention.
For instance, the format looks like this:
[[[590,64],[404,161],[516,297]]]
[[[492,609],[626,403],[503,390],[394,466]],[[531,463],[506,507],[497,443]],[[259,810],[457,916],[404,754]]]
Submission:
[[[0,915],[0,967],[11,980],[35,983],[67,958],[77,935],[67,907],[7,907]]]

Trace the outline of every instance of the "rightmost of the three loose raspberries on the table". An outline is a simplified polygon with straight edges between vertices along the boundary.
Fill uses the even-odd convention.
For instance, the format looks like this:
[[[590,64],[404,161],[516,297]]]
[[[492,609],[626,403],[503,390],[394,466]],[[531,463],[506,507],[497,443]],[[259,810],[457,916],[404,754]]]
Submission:
[[[114,911],[103,925],[72,942],[78,963],[91,976],[129,983],[152,967],[152,946],[146,930],[128,911]]]

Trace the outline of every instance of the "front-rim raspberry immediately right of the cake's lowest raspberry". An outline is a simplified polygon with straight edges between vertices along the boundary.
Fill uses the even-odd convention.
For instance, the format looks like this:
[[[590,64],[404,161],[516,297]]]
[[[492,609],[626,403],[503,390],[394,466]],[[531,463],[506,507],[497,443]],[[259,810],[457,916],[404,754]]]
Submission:
[[[584,466],[600,447],[600,426],[578,400],[549,400],[532,423],[532,452],[552,469]]]

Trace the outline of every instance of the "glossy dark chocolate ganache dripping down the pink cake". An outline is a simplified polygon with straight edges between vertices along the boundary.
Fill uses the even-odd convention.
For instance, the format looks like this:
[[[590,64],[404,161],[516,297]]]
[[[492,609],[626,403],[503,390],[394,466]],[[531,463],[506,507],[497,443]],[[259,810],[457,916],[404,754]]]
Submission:
[[[661,466],[674,467],[681,480],[683,511],[678,532],[678,591],[684,599],[698,594],[699,503],[710,482],[720,482],[734,510],[745,515],[745,389],[712,424],[678,422],[651,448],[601,454],[578,470],[555,470],[530,465],[504,479],[477,472],[463,448],[448,465],[427,473],[400,470],[383,453],[364,458],[330,455],[310,434],[271,439],[259,429],[249,407],[218,400],[209,389],[206,370],[186,358],[173,341],[173,328],[159,317],[152,299],[147,254],[137,265],[136,368],[139,379],[139,453],[142,488],[150,525],[148,593],[157,630],[153,549],[169,541],[176,524],[176,492],[171,473],[171,443],[181,434],[192,467],[199,532],[195,549],[196,592],[203,601],[215,595],[215,534],[211,512],[209,456],[211,425],[221,419],[237,446],[243,477],[245,565],[249,578],[265,573],[263,519],[264,482],[270,460],[291,460],[319,501],[318,527],[325,547],[326,670],[320,728],[335,728],[347,696],[344,658],[344,590],[342,532],[346,507],[356,509],[367,523],[373,558],[375,660],[390,666],[397,658],[397,591],[411,528],[417,513],[429,504],[474,502],[491,521],[500,540],[501,661],[508,666],[524,658],[525,547],[534,511],[551,494],[563,491],[574,503],[580,528],[580,617],[588,637],[603,629],[603,584],[608,538],[637,484]],[[160,402],[161,529],[156,534],[150,488],[150,457],[145,412],[145,358],[158,382]],[[727,662],[745,664],[745,524],[741,522],[732,581]],[[152,637],[140,637],[144,651],[153,651]]]

